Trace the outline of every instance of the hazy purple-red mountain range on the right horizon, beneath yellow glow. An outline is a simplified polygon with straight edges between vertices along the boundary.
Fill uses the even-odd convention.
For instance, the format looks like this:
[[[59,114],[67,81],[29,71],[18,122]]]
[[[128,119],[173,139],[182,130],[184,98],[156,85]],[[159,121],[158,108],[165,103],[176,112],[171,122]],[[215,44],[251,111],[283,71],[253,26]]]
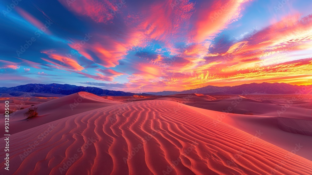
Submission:
[[[173,95],[185,93],[202,93],[205,95],[228,95],[228,94],[312,94],[312,85],[298,86],[287,83],[251,83],[238,86],[206,86],[185,91],[163,91],[147,93],[152,95]]]

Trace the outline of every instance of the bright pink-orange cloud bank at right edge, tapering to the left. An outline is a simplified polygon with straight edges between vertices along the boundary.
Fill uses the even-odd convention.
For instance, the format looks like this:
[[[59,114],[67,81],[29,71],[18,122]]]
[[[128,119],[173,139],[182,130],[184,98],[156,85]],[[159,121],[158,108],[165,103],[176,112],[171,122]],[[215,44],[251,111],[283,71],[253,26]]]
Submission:
[[[233,44],[228,54],[233,62],[262,62],[264,65],[293,60],[296,51],[308,50],[312,46],[312,15],[292,15],[283,18],[241,42]],[[306,54],[309,57],[309,54]],[[248,61],[253,60],[253,61]]]

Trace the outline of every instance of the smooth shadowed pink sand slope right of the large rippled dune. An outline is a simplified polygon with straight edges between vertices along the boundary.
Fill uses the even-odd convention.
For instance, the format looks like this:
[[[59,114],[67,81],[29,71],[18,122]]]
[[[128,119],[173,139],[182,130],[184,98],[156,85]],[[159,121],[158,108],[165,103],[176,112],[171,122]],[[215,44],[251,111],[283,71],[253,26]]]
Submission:
[[[300,143],[303,147],[296,154],[312,161],[312,137],[309,135],[311,120],[222,113],[191,106],[188,108],[216,119],[215,125],[227,123],[249,134],[254,134],[256,130],[261,131],[262,140],[289,152]]]

